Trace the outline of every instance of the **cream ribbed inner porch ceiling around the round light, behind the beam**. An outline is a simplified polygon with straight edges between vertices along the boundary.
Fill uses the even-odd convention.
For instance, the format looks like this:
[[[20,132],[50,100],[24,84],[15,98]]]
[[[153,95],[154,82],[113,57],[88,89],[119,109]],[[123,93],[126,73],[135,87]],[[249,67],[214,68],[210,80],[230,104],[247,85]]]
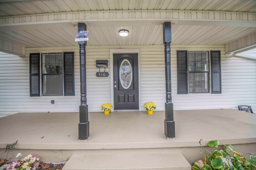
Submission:
[[[70,46],[75,42],[77,26],[71,23],[51,24],[51,28],[37,25],[27,29],[3,31],[0,37],[25,47]],[[58,26],[54,26],[58,25]],[[60,26],[62,25],[62,26]],[[70,25],[70,26],[68,26]],[[118,35],[120,29],[128,29],[129,35]],[[88,26],[87,45],[162,45],[162,24],[126,26]],[[172,25],[172,44],[224,45],[244,34],[255,32],[253,27]]]

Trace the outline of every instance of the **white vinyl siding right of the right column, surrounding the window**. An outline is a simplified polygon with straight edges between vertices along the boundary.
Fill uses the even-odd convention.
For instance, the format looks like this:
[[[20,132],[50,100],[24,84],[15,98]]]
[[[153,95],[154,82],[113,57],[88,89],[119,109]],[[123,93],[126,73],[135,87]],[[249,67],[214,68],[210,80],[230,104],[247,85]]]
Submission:
[[[222,94],[177,94],[176,51],[217,51],[221,54]],[[226,57],[224,46],[173,45],[172,101],[174,110],[238,109],[238,105],[252,106],[256,110],[256,60]]]

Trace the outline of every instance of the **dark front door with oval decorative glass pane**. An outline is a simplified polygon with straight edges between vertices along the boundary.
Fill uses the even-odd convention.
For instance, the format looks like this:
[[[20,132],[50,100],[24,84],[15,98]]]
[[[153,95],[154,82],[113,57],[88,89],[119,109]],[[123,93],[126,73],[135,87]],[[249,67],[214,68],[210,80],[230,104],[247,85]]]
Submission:
[[[138,54],[113,54],[114,110],[139,109]]]

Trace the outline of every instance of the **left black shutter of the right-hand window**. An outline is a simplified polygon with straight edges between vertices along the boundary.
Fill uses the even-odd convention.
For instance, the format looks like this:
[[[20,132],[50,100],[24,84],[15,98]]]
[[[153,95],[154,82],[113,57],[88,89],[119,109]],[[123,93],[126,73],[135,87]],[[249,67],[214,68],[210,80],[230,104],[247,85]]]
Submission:
[[[178,94],[188,94],[188,57],[187,51],[177,51]]]

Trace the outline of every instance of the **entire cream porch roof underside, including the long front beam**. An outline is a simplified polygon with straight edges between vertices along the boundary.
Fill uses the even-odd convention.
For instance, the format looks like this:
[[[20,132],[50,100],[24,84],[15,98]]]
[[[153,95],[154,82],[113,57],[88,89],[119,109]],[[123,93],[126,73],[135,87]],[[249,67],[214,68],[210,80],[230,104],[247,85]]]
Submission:
[[[242,46],[250,46],[256,41],[254,0],[62,2],[2,0],[0,51],[24,56],[26,47],[78,45],[78,23],[87,25],[87,45],[96,46],[162,45],[164,22],[172,23],[172,45],[226,45],[231,53],[242,48],[232,42],[244,40]],[[120,37],[120,29],[128,29],[129,36]]]

